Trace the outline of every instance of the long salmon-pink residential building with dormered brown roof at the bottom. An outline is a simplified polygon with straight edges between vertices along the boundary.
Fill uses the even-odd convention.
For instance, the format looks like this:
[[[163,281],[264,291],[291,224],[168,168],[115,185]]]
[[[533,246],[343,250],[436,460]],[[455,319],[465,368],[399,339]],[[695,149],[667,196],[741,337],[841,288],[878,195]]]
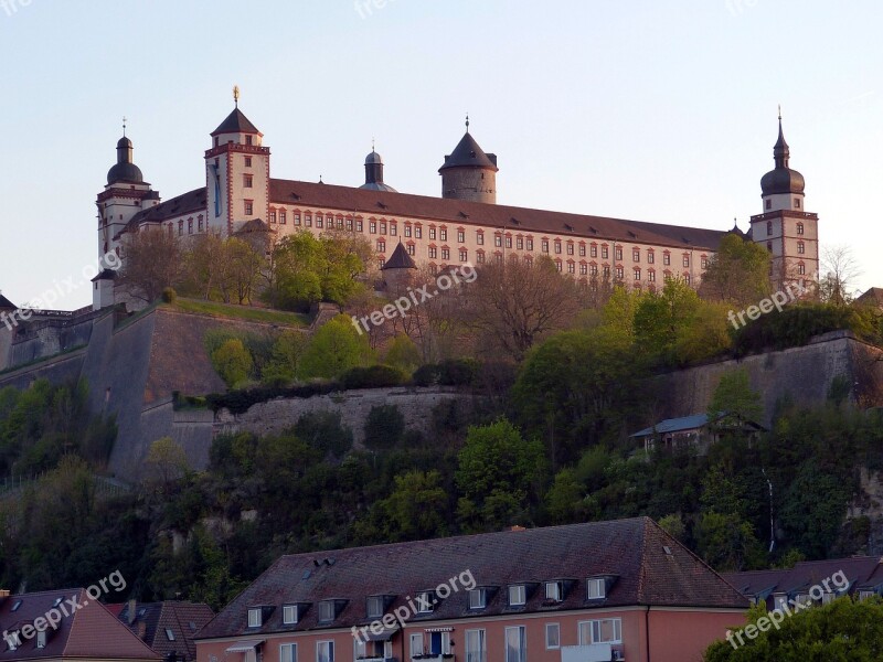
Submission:
[[[748,600],[647,517],[279,558],[199,662],[683,662]]]

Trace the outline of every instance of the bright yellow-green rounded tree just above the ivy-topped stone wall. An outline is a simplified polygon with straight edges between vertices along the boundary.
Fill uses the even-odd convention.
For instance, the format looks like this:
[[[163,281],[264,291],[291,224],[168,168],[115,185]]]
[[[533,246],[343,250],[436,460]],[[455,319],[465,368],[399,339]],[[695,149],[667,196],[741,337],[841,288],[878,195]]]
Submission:
[[[351,367],[368,365],[371,349],[347,316],[326,322],[310,339],[300,360],[304,377],[338,377]]]

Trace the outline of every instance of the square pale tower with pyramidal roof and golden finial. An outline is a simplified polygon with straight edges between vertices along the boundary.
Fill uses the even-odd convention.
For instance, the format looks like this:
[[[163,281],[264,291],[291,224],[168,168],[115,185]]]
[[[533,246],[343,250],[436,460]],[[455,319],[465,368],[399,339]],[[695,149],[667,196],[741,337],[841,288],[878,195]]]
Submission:
[[[205,152],[209,228],[231,236],[248,221],[267,222],[269,211],[269,148],[264,135],[236,107],[212,131],[212,148]]]

